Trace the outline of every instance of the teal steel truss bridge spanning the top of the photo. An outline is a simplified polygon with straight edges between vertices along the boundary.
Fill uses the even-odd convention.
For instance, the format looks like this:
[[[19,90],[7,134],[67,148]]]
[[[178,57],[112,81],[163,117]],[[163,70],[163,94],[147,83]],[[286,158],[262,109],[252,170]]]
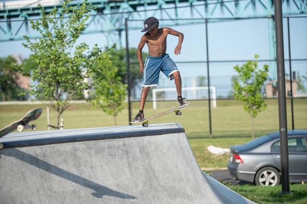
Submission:
[[[124,31],[124,18],[144,20],[149,16],[171,19],[167,25],[184,25],[204,23],[204,20],[225,20],[240,18],[258,18],[274,16],[273,0],[139,0],[139,1],[89,1],[97,9],[83,34],[118,33]],[[307,0],[283,0],[283,15],[307,13]],[[82,1],[71,3],[80,6]],[[47,12],[61,5],[46,6]],[[40,37],[30,32],[30,19],[40,16],[38,7],[23,7],[0,10],[0,41],[24,40],[23,35],[30,38]],[[187,18],[188,20],[184,20]],[[193,20],[195,19],[195,20]],[[134,23],[131,29],[142,29],[143,23]]]

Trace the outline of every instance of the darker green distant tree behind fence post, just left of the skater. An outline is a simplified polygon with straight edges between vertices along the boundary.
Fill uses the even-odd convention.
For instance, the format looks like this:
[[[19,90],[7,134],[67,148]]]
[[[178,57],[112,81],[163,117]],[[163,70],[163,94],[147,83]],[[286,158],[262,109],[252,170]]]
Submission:
[[[128,84],[127,66],[126,66],[126,48],[112,49],[108,52],[111,55],[111,61],[115,67],[118,68],[118,76],[121,78],[123,84]],[[147,53],[142,53],[143,62],[147,58]],[[130,86],[131,95],[135,96],[135,86],[142,82],[142,75],[140,74],[140,64],[137,56],[136,48],[129,48],[130,56]]]

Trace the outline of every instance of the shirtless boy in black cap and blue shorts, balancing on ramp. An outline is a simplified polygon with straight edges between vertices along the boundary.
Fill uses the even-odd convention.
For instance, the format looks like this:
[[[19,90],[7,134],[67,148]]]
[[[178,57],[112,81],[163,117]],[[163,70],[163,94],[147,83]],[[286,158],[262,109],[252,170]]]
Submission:
[[[140,73],[143,75],[143,90],[141,94],[140,111],[133,119],[134,122],[138,122],[144,119],[144,106],[148,91],[152,86],[158,86],[159,74],[162,71],[169,80],[175,80],[177,89],[177,101],[180,107],[186,106],[184,101],[185,98],[181,96],[181,77],[180,72],[176,64],[169,58],[166,54],[166,37],[168,34],[178,36],[179,42],[175,48],[175,55],[180,54],[181,44],[183,41],[183,34],[174,31],[170,28],[158,28],[159,20],[155,17],[149,17],[144,21],[144,29],[141,32],[146,32],[142,36],[137,49],[137,55],[140,63]],[[145,60],[145,65],[142,61],[142,49],[147,43],[148,46],[148,56]]]

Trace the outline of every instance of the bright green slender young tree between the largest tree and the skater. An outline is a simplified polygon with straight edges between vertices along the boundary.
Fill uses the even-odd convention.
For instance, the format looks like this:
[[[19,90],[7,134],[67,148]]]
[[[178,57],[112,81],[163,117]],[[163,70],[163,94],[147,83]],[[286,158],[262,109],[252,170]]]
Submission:
[[[91,104],[93,109],[99,106],[106,114],[112,115],[116,126],[116,117],[124,109],[127,85],[122,84],[110,56],[101,55],[94,68],[95,98],[90,100]]]

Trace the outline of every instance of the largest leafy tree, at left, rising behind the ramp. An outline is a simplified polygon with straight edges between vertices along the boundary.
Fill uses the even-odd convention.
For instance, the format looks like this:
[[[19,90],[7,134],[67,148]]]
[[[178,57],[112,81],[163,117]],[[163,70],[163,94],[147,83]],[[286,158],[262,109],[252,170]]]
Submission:
[[[87,1],[80,7],[72,6],[71,1],[64,0],[61,8],[55,7],[49,14],[38,5],[40,18],[30,23],[41,38],[30,41],[24,36],[27,43],[23,43],[33,53],[29,59],[37,65],[31,74],[35,83],[30,86],[29,94],[57,112],[57,127],[65,109],[75,98],[83,96],[83,90],[91,88],[85,79],[91,77],[93,64],[102,53],[97,44],[92,50],[84,42],[76,44],[94,7],[86,4]],[[14,67],[30,76],[23,66],[14,64]]]

